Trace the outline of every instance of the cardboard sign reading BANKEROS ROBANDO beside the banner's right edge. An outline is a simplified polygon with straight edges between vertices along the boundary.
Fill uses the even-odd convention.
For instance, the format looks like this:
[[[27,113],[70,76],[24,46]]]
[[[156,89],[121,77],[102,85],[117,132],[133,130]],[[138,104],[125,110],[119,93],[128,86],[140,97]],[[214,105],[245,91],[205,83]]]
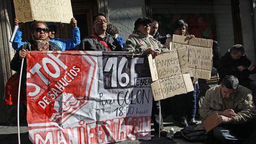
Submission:
[[[181,49],[181,54],[186,57],[187,51]],[[151,55],[148,56],[153,81],[151,89],[155,101],[194,90],[190,74],[185,74],[187,69],[186,59],[186,64],[184,64],[184,61],[183,63],[180,62],[179,59],[182,58],[179,58],[176,50],[162,53],[156,56],[155,59]],[[184,69],[181,69],[181,67],[184,67]]]

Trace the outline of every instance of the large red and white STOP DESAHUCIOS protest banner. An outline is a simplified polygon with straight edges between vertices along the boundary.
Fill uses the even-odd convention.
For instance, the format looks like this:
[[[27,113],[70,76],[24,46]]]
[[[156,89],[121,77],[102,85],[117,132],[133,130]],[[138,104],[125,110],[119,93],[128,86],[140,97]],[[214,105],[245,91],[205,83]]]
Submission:
[[[100,51],[30,51],[27,121],[33,143],[150,140],[146,56]]]

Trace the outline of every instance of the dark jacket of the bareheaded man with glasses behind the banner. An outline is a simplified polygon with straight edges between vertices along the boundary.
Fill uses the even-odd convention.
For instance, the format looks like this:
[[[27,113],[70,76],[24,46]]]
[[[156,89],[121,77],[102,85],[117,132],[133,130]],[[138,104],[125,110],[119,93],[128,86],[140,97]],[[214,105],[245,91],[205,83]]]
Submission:
[[[122,51],[122,46],[119,44],[119,42],[114,38],[113,36],[106,33],[106,36],[104,38],[100,38],[98,36],[99,40],[105,41],[106,44],[108,44],[108,48],[104,46],[104,44],[100,43],[99,40],[94,38],[93,36],[88,36],[87,38],[84,38],[82,40],[82,43],[80,44],[80,50],[81,51]]]

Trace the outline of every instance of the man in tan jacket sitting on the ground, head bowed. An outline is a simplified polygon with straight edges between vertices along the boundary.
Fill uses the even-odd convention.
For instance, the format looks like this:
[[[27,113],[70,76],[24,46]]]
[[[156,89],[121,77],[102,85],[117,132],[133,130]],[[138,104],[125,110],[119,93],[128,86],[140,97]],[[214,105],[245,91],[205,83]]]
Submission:
[[[200,108],[203,119],[218,113],[213,135],[218,143],[238,143],[255,132],[256,111],[252,91],[239,85],[233,75],[223,77],[221,85],[210,88]]]

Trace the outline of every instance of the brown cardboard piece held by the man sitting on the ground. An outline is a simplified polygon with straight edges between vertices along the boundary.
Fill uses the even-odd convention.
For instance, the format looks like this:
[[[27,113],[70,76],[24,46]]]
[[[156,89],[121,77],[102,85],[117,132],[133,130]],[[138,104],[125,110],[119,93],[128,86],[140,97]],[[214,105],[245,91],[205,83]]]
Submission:
[[[207,132],[210,132],[212,129],[218,126],[218,122],[216,122],[217,117],[218,117],[218,113],[215,112],[203,121],[203,126],[205,127],[205,130]]]

